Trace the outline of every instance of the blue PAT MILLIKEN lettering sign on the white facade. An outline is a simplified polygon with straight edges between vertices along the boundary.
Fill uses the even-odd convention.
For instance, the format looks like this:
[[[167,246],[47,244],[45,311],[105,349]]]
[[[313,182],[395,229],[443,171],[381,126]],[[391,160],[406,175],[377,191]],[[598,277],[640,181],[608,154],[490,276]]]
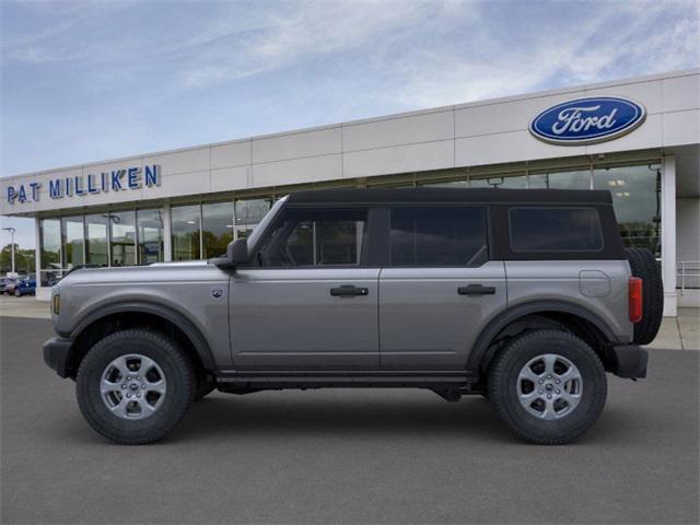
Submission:
[[[10,205],[14,205],[38,201],[43,194],[51,199],[62,199],[152,188],[161,185],[161,166],[152,164],[143,170],[125,167],[88,175],[57,177],[45,183],[46,187],[38,182],[8,186],[4,190],[5,198]]]

